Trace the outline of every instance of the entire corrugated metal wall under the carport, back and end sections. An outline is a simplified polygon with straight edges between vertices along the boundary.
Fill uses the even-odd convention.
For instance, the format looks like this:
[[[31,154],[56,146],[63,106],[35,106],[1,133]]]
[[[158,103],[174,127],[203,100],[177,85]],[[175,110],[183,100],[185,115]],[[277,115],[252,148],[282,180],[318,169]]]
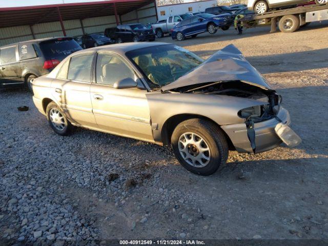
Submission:
[[[153,23],[156,22],[156,10],[154,3],[143,6],[137,10],[120,16],[122,24],[128,23]],[[114,15],[85,18],[83,20],[73,19],[65,20],[64,27],[67,36],[83,35],[84,27],[85,33],[103,33],[108,27],[116,27],[116,20]],[[32,30],[31,30],[32,29]],[[0,28],[0,46],[12,44],[24,40],[44,37],[63,36],[61,26],[58,22],[39,23],[33,26],[18,26],[10,28]]]

